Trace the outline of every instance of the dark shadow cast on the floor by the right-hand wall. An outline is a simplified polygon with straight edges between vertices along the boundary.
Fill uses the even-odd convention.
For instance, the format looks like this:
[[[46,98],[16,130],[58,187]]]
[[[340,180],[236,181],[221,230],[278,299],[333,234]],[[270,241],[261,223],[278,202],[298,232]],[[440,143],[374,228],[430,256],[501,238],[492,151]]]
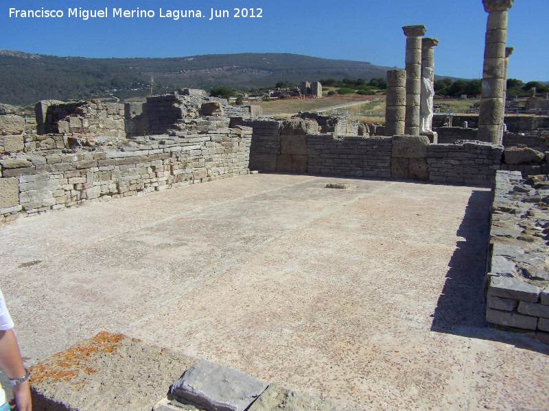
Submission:
[[[549,354],[549,346],[535,340],[533,332],[509,332],[489,326],[484,299],[484,271],[489,242],[489,211],[492,193],[474,190],[450,259],[446,282],[432,315],[431,331],[500,341],[519,348]]]

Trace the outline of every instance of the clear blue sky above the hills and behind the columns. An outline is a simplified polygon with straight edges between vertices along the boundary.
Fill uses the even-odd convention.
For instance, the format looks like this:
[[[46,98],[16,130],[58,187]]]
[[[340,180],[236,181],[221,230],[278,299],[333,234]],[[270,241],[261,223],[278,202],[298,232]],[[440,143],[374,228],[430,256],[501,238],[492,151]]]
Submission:
[[[83,57],[180,57],[216,53],[297,53],[404,67],[403,25],[423,24],[440,40],[435,73],[482,77],[488,14],[481,0],[0,0],[0,49]],[[16,10],[62,10],[62,18],[14,18]],[[69,8],[104,10],[108,18],[68,16]],[[119,18],[113,8],[152,10],[153,18]],[[205,18],[161,18],[167,10],[201,10]],[[211,9],[229,18],[209,20]],[[263,10],[234,18],[234,8]],[[517,0],[507,45],[509,77],[549,81],[549,0]]]

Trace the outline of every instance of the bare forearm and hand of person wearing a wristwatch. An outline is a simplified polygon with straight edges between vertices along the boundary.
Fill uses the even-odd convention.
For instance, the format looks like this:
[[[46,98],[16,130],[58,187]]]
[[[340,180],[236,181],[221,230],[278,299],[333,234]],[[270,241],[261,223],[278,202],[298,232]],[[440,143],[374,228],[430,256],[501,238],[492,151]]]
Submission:
[[[10,379],[19,379],[25,376],[25,366],[17,345],[17,338],[12,329],[0,331],[0,366]],[[13,387],[15,403],[19,411],[31,411],[30,382]]]

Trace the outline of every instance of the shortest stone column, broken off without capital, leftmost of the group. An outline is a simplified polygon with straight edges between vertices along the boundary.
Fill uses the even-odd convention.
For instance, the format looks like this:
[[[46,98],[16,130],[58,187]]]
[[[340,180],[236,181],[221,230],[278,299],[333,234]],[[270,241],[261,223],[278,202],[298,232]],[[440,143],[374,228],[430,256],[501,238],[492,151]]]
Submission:
[[[385,135],[400,136],[404,134],[406,70],[387,71],[387,97],[385,103]]]

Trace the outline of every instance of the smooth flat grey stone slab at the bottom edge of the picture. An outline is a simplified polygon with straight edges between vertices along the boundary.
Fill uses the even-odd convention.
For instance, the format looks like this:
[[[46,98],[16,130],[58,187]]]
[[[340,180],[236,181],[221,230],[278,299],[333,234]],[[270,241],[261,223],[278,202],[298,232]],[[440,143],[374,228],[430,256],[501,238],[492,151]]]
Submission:
[[[244,411],[267,387],[240,371],[199,361],[174,382],[171,393],[179,401],[211,411]]]

